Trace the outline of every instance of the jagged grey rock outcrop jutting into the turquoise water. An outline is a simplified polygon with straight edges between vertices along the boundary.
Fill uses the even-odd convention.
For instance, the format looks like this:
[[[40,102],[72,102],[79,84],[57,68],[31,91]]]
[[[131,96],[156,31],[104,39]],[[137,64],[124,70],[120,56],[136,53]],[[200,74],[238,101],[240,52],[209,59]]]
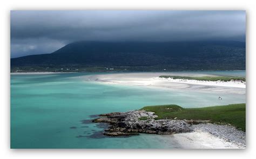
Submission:
[[[133,110],[125,113],[101,114],[93,122],[110,123],[104,135],[122,136],[147,134],[176,134],[191,132],[190,124],[184,120],[162,119],[155,120],[157,115],[145,110]]]

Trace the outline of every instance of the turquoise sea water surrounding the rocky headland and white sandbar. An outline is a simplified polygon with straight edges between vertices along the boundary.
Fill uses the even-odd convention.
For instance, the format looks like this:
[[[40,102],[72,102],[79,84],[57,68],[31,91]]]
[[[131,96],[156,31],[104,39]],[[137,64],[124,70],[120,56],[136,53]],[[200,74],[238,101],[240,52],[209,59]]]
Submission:
[[[245,77],[245,71],[200,73]],[[245,94],[104,85],[79,78],[89,74],[11,75],[11,148],[179,148],[171,135],[168,140],[150,134],[106,137],[106,125],[90,121],[97,114],[148,105],[187,108],[246,102]],[[218,100],[220,95],[225,100]]]

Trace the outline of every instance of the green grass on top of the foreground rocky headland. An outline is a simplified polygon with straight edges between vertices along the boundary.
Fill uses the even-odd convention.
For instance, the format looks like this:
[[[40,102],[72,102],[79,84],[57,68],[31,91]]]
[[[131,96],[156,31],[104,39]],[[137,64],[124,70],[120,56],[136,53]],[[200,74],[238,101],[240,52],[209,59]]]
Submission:
[[[158,119],[211,120],[213,123],[231,124],[245,132],[245,103],[204,108],[182,108],[177,105],[146,106]],[[141,110],[142,110],[141,109]]]

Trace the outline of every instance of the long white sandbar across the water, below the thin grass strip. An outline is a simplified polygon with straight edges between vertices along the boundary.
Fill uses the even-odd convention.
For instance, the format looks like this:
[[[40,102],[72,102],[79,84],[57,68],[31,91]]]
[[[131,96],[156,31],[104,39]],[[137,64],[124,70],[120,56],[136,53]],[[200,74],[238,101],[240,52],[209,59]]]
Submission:
[[[102,84],[135,85],[146,87],[158,87],[161,89],[188,89],[197,91],[214,91],[224,93],[245,94],[246,85],[239,81],[196,81],[196,80],[173,80],[159,78],[160,75],[180,75],[188,77],[216,76],[210,74],[192,73],[112,73],[85,75],[86,81],[95,81]]]

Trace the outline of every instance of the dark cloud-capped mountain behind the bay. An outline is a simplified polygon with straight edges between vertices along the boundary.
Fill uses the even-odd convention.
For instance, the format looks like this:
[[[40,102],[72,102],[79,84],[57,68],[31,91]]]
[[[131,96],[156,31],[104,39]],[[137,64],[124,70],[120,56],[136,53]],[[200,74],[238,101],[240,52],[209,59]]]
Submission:
[[[244,42],[76,42],[50,54],[11,59],[11,66],[166,67],[245,70]]]

